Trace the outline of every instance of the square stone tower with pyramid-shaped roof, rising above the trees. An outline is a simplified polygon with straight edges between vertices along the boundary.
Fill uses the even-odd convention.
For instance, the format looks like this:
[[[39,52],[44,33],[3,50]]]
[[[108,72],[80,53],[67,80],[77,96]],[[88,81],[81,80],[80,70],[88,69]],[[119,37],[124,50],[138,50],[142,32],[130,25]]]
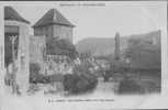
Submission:
[[[58,37],[72,43],[74,26],[58,10],[51,9],[33,25],[33,29],[34,35],[45,35],[46,41]]]

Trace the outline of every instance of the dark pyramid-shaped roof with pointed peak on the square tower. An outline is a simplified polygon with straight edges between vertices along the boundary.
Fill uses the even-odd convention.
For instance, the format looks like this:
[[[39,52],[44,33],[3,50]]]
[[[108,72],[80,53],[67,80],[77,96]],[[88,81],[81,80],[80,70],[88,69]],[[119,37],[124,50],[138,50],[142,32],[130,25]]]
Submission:
[[[58,24],[74,28],[71,24],[58,10],[51,9],[46,12],[34,25],[33,28],[44,26],[48,24]]]

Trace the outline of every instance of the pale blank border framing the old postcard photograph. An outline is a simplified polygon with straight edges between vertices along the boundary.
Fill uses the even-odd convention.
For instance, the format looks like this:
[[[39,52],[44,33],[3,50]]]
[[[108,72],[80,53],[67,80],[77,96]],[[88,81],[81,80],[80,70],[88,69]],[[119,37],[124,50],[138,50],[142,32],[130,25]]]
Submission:
[[[49,2],[54,1],[1,1],[0,2],[0,36],[3,36],[3,6],[4,4],[48,4]],[[55,1],[55,2],[61,2],[61,1]],[[65,1],[64,1],[65,2]],[[71,2],[71,1],[67,1]],[[82,1],[74,1],[74,2],[82,2]],[[86,2],[86,1],[85,1]],[[91,1],[92,2],[92,1]],[[94,1],[94,2],[117,2],[117,1]],[[131,3],[134,1],[119,1],[123,4]],[[137,1],[136,1],[137,2]],[[139,3],[147,3],[153,1],[138,1]],[[167,3],[166,1],[155,1],[158,3]],[[167,14],[167,13],[166,13]],[[1,30],[2,29],[2,30]],[[3,37],[0,37],[0,45],[3,45]],[[2,55],[2,53],[0,53]],[[3,55],[4,56],[4,55]],[[3,61],[1,61],[3,62]],[[4,64],[3,64],[4,65]],[[3,79],[2,72],[4,70],[3,67],[1,68],[1,79]],[[1,80],[1,84],[3,80]],[[1,85],[0,85],[1,87]],[[42,98],[40,96],[35,96],[34,98],[25,97],[23,98],[13,98],[11,99],[11,96],[4,96],[2,95],[2,110],[10,110],[9,108],[12,108],[13,110],[34,110],[34,108],[47,109],[47,110],[54,110],[54,109],[76,109],[76,110],[109,110],[109,109],[142,109],[142,108],[150,108],[150,109],[157,109],[157,108],[168,108],[168,38],[167,38],[167,26],[163,26],[161,29],[161,88],[163,92],[160,96],[121,96],[121,97],[114,97],[114,102],[61,102],[61,103],[48,103],[46,98]],[[3,88],[1,88],[3,89]],[[1,90],[2,91],[2,90]],[[12,100],[11,102],[9,100]],[[1,102],[0,101],[0,102]],[[36,103],[33,103],[33,102]],[[20,108],[20,105],[23,105],[24,107]],[[34,108],[33,108],[34,107]],[[18,109],[14,109],[18,108]],[[36,109],[35,109],[36,110]]]

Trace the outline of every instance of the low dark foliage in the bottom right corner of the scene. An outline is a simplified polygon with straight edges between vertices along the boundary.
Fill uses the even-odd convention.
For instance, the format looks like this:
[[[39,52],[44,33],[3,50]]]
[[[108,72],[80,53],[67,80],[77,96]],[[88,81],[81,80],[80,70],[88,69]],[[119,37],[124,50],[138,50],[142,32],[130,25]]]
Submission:
[[[157,76],[141,75],[138,79],[135,77],[132,76],[131,78],[130,76],[130,78],[122,79],[119,86],[119,94],[160,92],[160,78],[158,78]]]

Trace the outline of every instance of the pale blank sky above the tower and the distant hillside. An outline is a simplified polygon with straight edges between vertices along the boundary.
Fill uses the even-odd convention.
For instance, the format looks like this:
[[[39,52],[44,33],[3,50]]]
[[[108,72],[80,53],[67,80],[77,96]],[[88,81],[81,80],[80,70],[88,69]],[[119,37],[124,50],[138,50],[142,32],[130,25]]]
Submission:
[[[30,21],[31,26],[49,9],[57,9],[76,25],[75,44],[87,37],[114,37],[116,32],[126,36],[166,29],[167,25],[167,6],[164,1],[13,2],[10,6]],[[33,34],[32,29],[30,32]]]

